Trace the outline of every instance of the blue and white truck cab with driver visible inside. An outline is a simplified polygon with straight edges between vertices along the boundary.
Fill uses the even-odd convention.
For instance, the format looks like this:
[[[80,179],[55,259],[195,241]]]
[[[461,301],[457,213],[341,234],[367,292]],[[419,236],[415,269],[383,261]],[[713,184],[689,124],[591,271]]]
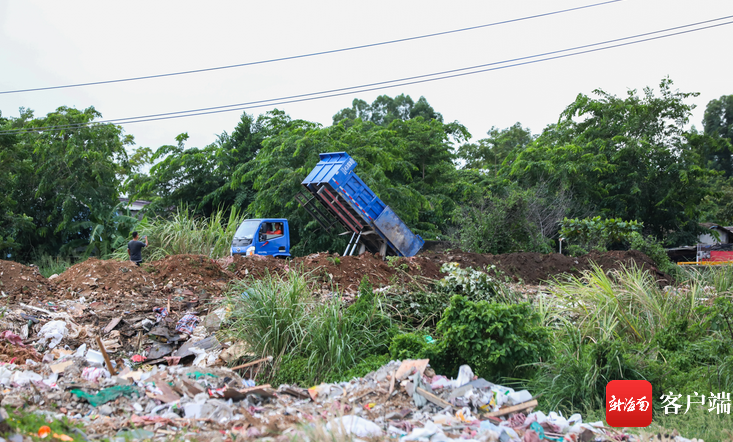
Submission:
[[[247,219],[232,240],[232,255],[290,257],[290,230],[284,218]]]

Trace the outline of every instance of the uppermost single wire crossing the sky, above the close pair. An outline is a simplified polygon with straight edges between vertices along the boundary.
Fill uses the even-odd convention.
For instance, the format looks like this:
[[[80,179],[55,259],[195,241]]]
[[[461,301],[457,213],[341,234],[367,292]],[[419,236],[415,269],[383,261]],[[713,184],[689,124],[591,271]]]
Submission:
[[[596,6],[607,5],[609,3],[617,3],[617,2],[620,2],[620,1],[623,1],[623,0],[608,0],[608,1],[601,2],[601,3],[593,3],[593,4],[585,5],[585,6],[577,6],[575,8],[561,9],[561,10],[558,10],[558,11],[545,12],[545,13],[542,13],[542,14],[530,15],[530,16],[520,17],[520,18],[513,18],[513,19],[509,19],[509,20],[503,20],[503,21],[494,22],[494,23],[487,23],[487,24],[483,24],[483,25],[470,26],[470,27],[467,27],[467,28],[453,29],[453,30],[450,30],[450,31],[442,31],[442,32],[434,32],[432,34],[417,35],[417,36],[413,36],[413,37],[405,37],[405,38],[399,38],[399,39],[396,39],[396,40],[387,40],[387,41],[378,42],[378,43],[369,43],[369,44],[364,44],[364,45],[359,45],[359,46],[351,46],[351,47],[340,48],[340,49],[331,49],[331,50],[328,50],[328,51],[312,52],[312,53],[309,53],[309,54],[291,55],[291,56],[281,57],[281,58],[272,58],[272,59],[269,59],[269,60],[252,61],[252,62],[248,62],[248,63],[232,64],[232,65],[227,65],[227,66],[217,66],[217,67],[212,67],[212,68],[193,69],[193,70],[189,70],[189,71],[170,72],[170,73],[167,73],[167,74],[155,74],[155,75],[145,75],[145,76],[140,76],[140,77],[120,78],[120,79],[117,79],[117,80],[92,81],[92,82],[88,82],[88,83],[75,83],[75,84],[67,84],[67,85],[61,85],[61,86],[46,86],[46,87],[37,87],[37,88],[30,88],[30,89],[16,89],[16,90],[10,90],[10,91],[0,91],[0,95],[2,95],[2,94],[16,94],[16,93],[21,93],[21,92],[47,91],[47,90],[52,90],[52,89],[66,89],[66,88],[81,87],[81,86],[94,86],[94,85],[99,85],[99,84],[122,83],[122,82],[127,82],[127,81],[149,80],[149,79],[152,79],[152,78],[162,78],[162,77],[173,77],[173,76],[176,76],[176,75],[197,74],[197,73],[201,73],[201,72],[218,71],[218,70],[222,70],[222,69],[232,69],[232,68],[239,68],[239,67],[244,67],[244,66],[254,66],[254,65],[258,65],[258,64],[275,63],[275,62],[278,62],[278,61],[295,60],[295,59],[298,59],[298,58],[315,57],[315,56],[318,56],[318,55],[335,54],[335,53],[338,53],[338,52],[354,51],[354,50],[357,50],[357,49],[366,49],[366,48],[372,48],[372,47],[376,47],[376,46],[384,46],[384,45],[389,45],[389,44],[394,44],[394,43],[403,43],[403,42],[406,42],[406,41],[419,40],[419,39],[430,38],[430,37],[438,37],[438,36],[441,36],[441,35],[455,34],[455,33],[458,33],[458,32],[473,31],[473,30],[476,30],[476,29],[488,28],[488,27],[491,27],[491,26],[504,25],[504,24],[508,24],[508,23],[515,23],[515,22],[524,21],[524,20],[531,20],[531,19],[540,18],[540,17],[547,17],[547,16],[550,16],[550,15],[562,14],[562,13],[565,13],[565,12],[577,11],[577,10],[580,10],[580,9],[593,8],[593,7],[596,7]]]

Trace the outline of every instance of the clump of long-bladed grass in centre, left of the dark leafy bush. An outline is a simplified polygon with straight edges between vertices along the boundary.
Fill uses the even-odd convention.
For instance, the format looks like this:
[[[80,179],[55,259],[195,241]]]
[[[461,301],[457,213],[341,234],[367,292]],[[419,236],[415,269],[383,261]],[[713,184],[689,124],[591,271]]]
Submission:
[[[272,356],[275,371],[289,364],[283,371],[296,372],[302,382],[330,379],[388,351],[392,322],[371,286],[349,307],[340,296],[321,301],[313,289],[312,275],[297,270],[235,282],[225,338]]]

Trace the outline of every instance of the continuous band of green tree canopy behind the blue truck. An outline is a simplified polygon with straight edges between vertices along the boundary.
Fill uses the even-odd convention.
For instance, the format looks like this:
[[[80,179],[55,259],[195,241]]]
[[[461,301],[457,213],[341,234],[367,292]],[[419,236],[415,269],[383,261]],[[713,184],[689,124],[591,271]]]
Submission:
[[[330,126],[277,109],[245,113],[203,147],[183,133],[130,150],[132,136],[95,123],[94,108],[0,114],[0,252],[105,255],[137,223],[121,195],[149,200],[148,216],[186,206],[195,216],[286,217],[294,254],[340,251],[345,238],[321,231],[294,200],[318,154],[338,151],[415,232],[467,250],[549,251],[564,217],[593,216],[692,244],[700,221],[733,223],[733,96],[708,104],[698,132],[687,128],[696,94],[672,86],[580,94],[540,134],[518,122],[476,142],[424,97],[404,94],[355,99]],[[43,129],[52,125],[64,128]]]

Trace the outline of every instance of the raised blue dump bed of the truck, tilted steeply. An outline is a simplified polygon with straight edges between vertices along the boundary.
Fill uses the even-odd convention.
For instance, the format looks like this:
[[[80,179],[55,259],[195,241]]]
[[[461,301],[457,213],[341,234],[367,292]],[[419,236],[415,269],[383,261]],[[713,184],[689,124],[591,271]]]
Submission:
[[[322,153],[320,158],[303,186],[340,224],[359,235],[367,250],[397,256],[420,251],[425,241],[354,173],[353,158],[345,152]],[[312,199],[305,201],[301,196],[298,200],[323,227],[330,227],[323,212],[310,204]]]

